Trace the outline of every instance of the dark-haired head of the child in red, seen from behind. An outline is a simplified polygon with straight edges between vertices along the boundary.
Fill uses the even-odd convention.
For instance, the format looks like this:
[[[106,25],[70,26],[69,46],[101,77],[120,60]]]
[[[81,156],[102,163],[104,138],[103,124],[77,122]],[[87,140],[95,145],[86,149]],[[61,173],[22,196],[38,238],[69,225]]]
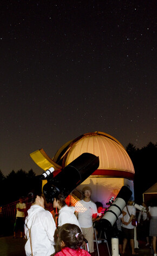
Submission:
[[[66,223],[59,228],[58,243],[60,248],[78,249],[82,246],[83,240],[84,236],[77,225]]]

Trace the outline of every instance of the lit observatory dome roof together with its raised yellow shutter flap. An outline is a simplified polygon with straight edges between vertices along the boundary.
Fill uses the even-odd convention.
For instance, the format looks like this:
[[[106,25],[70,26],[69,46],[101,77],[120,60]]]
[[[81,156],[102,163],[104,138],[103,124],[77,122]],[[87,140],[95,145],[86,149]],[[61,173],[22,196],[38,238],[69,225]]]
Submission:
[[[85,133],[67,142],[57,150],[53,159],[43,149],[30,156],[43,170],[50,167],[61,170],[83,153],[99,156],[99,168],[91,176],[134,178],[134,166],[127,151],[117,139],[104,132]]]

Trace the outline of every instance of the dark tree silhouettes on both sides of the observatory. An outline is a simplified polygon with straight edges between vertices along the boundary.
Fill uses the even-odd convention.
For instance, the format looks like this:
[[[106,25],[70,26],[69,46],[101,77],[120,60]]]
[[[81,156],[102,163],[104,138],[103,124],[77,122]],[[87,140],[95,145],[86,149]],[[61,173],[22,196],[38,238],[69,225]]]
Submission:
[[[146,147],[138,149],[129,143],[126,150],[135,169],[135,202],[141,204],[143,192],[156,182],[157,144],[149,142]],[[15,202],[21,196],[27,197],[30,191],[38,188],[41,188],[41,181],[36,178],[32,169],[29,172],[12,170],[6,177],[0,170],[0,206]]]

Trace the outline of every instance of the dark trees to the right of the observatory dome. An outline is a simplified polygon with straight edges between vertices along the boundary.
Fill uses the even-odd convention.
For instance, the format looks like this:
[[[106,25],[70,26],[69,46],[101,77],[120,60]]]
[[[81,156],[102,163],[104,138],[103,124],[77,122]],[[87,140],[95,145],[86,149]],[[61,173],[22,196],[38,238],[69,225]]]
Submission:
[[[153,186],[156,179],[157,143],[149,142],[146,147],[135,148],[133,144],[127,145],[127,153],[133,162],[135,169],[134,194],[135,202],[142,203],[142,194]]]

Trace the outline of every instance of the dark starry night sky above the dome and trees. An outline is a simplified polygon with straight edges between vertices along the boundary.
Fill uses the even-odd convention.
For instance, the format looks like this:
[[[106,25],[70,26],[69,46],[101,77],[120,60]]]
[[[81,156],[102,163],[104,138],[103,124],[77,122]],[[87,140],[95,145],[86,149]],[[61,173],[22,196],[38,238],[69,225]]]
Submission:
[[[0,2],[4,175],[101,131],[156,143],[156,0]]]

